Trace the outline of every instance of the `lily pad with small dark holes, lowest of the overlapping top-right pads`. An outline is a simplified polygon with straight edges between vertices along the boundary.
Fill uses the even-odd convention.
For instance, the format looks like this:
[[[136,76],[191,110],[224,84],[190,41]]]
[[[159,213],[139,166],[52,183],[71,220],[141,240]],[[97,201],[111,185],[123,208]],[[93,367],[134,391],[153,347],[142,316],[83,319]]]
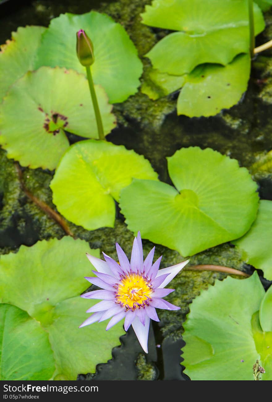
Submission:
[[[141,92],[157,99],[182,87],[177,101],[178,115],[208,117],[235,105],[247,90],[249,77],[250,56],[242,54],[225,67],[202,64],[182,76],[151,70]]]

